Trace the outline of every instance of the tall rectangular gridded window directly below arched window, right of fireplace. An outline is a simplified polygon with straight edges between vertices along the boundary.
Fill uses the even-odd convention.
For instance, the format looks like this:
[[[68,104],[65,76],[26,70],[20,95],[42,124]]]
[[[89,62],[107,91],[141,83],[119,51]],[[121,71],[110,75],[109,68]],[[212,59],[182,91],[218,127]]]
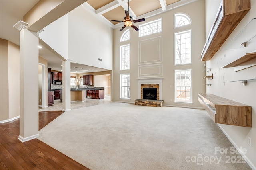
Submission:
[[[175,65],[191,64],[191,30],[175,33]]]

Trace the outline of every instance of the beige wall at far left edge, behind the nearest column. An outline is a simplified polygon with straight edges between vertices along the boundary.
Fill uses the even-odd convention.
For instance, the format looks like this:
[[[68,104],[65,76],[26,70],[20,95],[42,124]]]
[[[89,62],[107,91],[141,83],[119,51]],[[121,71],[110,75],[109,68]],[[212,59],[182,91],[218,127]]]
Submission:
[[[20,51],[19,46],[0,39],[0,121],[20,115]]]

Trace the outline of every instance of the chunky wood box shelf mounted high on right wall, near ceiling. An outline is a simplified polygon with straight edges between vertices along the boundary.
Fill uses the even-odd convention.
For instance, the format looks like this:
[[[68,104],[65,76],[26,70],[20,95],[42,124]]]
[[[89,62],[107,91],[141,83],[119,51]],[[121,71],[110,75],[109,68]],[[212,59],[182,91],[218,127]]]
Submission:
[[[250,0],[223,0],[204,45],[201,61],[214,56],[250,8]]]

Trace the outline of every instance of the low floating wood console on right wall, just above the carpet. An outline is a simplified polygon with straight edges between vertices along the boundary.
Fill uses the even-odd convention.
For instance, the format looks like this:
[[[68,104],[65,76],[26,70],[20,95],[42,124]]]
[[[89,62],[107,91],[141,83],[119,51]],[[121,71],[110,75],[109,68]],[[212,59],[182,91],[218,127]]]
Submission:
[[[251,106],[208,93],[199,93],[198,101],[215,123],[252,127]]]

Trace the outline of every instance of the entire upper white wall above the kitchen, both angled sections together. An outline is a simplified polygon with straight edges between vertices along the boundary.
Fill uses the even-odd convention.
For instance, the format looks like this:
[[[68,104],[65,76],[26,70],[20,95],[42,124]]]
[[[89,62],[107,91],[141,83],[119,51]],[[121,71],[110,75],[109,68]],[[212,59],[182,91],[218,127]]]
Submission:
[[[40,38],[72,63],[112,70],[113,29],[83,6],[45,27]]]

